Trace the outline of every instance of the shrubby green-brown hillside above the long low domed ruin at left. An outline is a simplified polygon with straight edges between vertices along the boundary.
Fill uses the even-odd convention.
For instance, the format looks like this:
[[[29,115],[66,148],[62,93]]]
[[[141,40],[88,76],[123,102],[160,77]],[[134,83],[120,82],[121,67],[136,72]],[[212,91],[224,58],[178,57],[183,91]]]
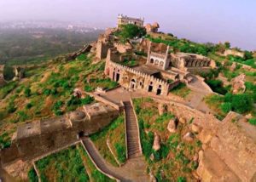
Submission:
[[[73,97],[74,88],[93,91],[96,87],[116,87],[117,83],[105,77],[103,70],[103,61],[93,63],[92,58],[83,54],[70,62],[48,62],[28,69],[22,81],[9,82],[0,88],[0,133],[7,133],[0,140],[1,145],[9,146],[11,135],[20,122],[60,116],[93,102],[90,96]]]

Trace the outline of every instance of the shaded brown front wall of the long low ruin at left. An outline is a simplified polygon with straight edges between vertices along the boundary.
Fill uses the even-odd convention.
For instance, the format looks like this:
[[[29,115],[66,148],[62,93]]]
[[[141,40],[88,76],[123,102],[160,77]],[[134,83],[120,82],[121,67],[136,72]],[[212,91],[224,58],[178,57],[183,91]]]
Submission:
[[[0,151],[1,162],[7,164],[9,162],[14,162],[19,158],[22,160],[30,160],[45,152],[54,151],[64,145],[78,141],[79,134],[89,135],[98,132],[112,122],[114,118],[118,117],[118,115],[119,111],[112,109],[111,111],[99,113],[96,117],[90,119],[86,117],[81,121],[74,122],[69,120],[71,125],[67,126],[67,122],[65,122],[62,124],[62,127],[58,128],[55,127],[55,122],[61,121],[58,118],[56,118],[56,121],[53,119],[50,122],[47,122],[47,128],[42,126],[45,122],[43,123],[41,121],[38,121],[39,123],[34,125],[28,124],[27,126],[41,125],[43,128],[23,127],[23,129],[25,128],[31,131],[20,130],[22,133],[27,132],[28,134],[21,134],[20,138],[17,137],[13,140],[10,148]],[[39,131],[39,133],[33,131]]]

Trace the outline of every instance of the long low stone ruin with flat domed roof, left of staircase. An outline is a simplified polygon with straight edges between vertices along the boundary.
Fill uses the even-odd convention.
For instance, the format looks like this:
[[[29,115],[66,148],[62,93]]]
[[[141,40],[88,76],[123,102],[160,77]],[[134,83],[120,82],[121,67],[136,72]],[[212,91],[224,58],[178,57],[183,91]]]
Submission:
[[[95,103],[63,117],[21,125],[13,136],[12,145],[0,152],[1,162],[32,159],[73,143],[106,127],[118,115],[119,111],[112,106]]]

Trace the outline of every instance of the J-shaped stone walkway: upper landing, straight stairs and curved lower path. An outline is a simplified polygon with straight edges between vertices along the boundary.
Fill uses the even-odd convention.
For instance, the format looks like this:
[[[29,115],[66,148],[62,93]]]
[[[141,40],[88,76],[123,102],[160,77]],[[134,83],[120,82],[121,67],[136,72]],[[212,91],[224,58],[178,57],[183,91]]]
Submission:
[[[146,172],[147,164],[139,141],[137,119],[130,101],[131,93],[118,88],[114,92],[101,94],[101,96],[105,99],[113,100],[116,104],[119,104],[120,101],[124,102],[128,159],[122,167],[113,167],[105,161],[89,138],[83,138],[82,141],[86,151],[88,151],[97,168],[103,173],[108,173],[108,175],[121,181],[149,181],[149,176]]]

